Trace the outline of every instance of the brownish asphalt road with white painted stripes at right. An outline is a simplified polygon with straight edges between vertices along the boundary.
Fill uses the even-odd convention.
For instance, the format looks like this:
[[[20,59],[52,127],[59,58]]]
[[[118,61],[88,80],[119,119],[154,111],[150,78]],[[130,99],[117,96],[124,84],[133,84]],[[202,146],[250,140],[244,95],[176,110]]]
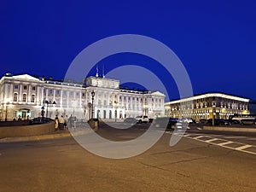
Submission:
[[[105,126],[98,134],[122,141],[143,134],[145,126]],[[123,160],[90,154],[73,137],[0,143],[0,191],[256,191],[256,154],[247,153],[256,137],[193,126],[173,147],[171,137],[166,131],[148,151]],[[233,144],[219,145],[225,142]]]

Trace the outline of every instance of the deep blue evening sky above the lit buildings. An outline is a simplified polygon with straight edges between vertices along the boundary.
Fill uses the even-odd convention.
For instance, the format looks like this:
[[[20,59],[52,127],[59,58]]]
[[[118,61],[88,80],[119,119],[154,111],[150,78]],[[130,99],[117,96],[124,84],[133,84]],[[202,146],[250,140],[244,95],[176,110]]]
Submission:
[[[132,33],[155,38],[171,48],[186,67],[194,93],[221,91],[256,99],[255,10],[253,0],[2,0],[0,74],[63,79],[86,46]],[[111,69],[110,62],[148,62],[148,58],[138,57],[113,55],[104,61],[105,71]],[[170,90],[171,97],[177,98],[172,79]]]

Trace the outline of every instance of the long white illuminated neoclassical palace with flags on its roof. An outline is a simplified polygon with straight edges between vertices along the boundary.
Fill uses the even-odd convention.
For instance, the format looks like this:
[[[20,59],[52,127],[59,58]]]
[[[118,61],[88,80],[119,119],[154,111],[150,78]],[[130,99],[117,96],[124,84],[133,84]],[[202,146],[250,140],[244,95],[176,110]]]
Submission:
[[[101,119],[143,114],[154,118],[164,115],[164,101],[165,95],[159,91],[120,89],[116,79],[89,77],[78,84],[9,73],[0,79],[1,120],[32,119],[42,114],[52,119],[56,114],[90,119],[92,113],[93,118]]]

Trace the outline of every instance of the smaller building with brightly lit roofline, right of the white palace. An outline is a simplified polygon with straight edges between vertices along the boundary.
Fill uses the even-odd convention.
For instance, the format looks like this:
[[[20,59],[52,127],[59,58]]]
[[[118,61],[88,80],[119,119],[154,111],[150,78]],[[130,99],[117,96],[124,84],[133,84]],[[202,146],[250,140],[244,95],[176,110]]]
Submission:
[[[166,116],[173,118],[229,119],[234,114],[249,114],[249,99],[224,93],[206,93],[166,102]]]

